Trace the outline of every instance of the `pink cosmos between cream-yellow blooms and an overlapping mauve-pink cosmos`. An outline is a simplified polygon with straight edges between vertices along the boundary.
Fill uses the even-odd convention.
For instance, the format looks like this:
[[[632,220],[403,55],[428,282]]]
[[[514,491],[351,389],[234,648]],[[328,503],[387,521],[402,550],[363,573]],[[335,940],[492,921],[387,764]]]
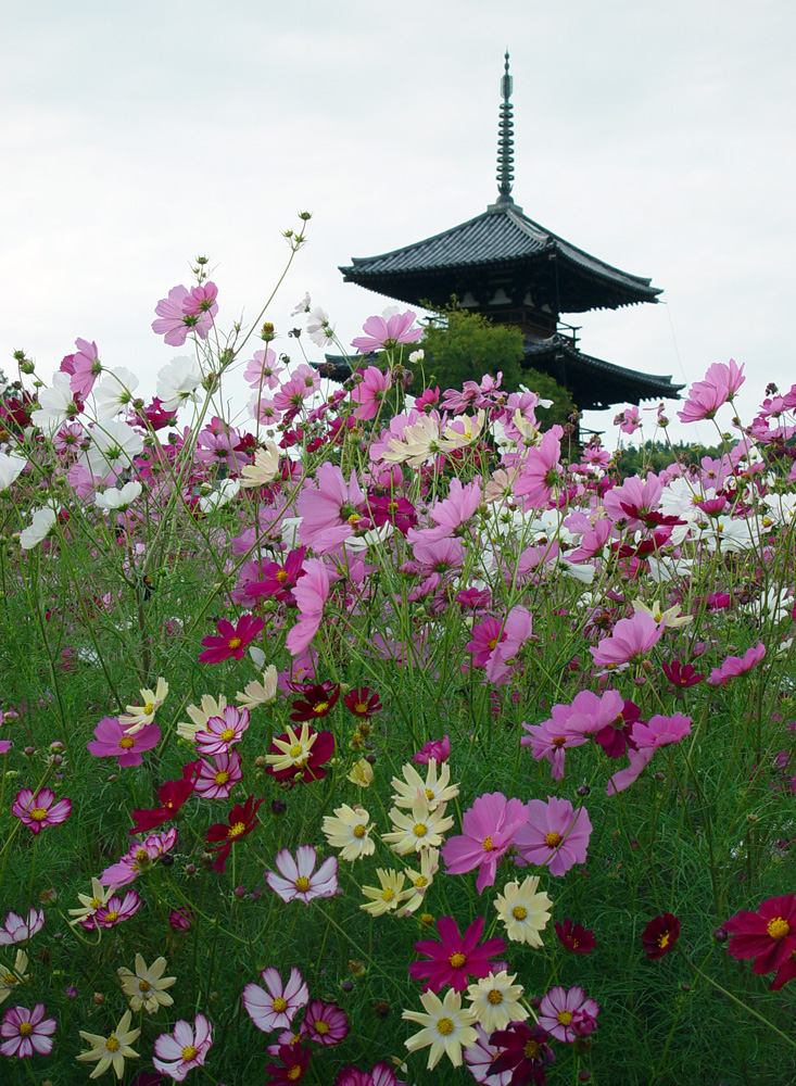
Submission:
[[[502,792],[488,792],[462,818],[462,835],[448,837],[442,858],[448,874],[460,875],[479,868],[476,889],[493,886],[497,863],[528,819],[521,799],[506,799]]]

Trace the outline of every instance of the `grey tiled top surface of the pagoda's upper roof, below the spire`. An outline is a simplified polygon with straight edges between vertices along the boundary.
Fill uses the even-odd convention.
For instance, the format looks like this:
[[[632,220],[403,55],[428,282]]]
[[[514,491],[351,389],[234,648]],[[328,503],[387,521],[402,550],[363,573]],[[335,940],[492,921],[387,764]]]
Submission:
[[[392,293],[401,280],[417,281],[467,268],[483,272],[527,265],[536,266],[536,276],[540,272],[553,276],[553,269],[547,270],[552,256],[565,273],[561,313],[654,302],[661,292],[649,279],[611,267],[552,233],[522,214],[513,201],[493,204],[476,218],[425,241],[380,256],[353,257],[351,265],[340,270],[346,281]],[[567,290],[567,273],[574,277],[573,283],[578,281],[577,288],[573,285]],[[592,283],[587,299],[583,295],[584,280]],[[393,296],[401,295],[393,293]]]

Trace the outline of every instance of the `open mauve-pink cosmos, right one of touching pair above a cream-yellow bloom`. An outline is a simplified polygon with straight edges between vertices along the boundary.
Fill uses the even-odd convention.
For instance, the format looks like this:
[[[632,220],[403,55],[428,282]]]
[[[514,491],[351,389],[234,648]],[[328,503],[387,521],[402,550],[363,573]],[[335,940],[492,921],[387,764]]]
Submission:
[[[519,867],[547,866],[552,875],[563,875],[576,863],[585,863],[592,823],[585,807],[572,809],[568,799],[547,796],[526,805],[528,820],[517,833]]]

